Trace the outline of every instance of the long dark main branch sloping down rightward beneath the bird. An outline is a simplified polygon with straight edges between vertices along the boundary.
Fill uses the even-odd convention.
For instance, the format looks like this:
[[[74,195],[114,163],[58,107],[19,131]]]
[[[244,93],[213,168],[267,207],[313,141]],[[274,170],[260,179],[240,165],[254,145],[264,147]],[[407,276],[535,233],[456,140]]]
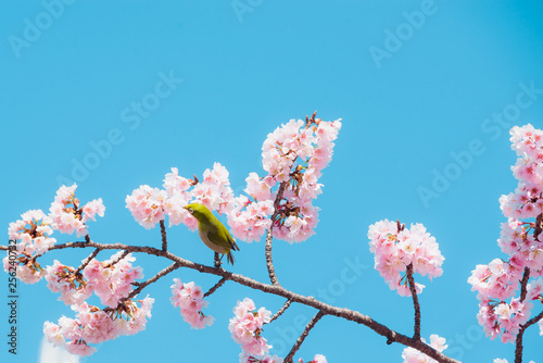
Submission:
[[[434,359],[435,361],[438,361],[440,363],[459,363],[458,361],[456,361],[452,358],[449,358],[441,352],[438,352],[435,349],[424,343],[421,340],[416,340],[416,339],[407,337],[403,334],[396,333],[396,331],[392,330],[391,328],[374,321],[371,317],[362,314],[361,312],[353,311],[353,310],[350,310],[346,308],[333,306],[333,305],[327,304],[325,302],[321,302],[319,300],[316,300],[313,297],[306,297],[306,296],[299,295],[299,293],[292,292],[290,290],[287,290],[282,286],[263,284],[263,283],[260,283],[255,279],[250,278],[250,277],[228,272],[224,268],[215,268],[212,266],[206,266],[206,265],[202,265],[199,263],[194,263],[192,261],[181,259],[181,258],[179,258],[179,256],[177,256],[168,251],[162,251],[162,250],[159,250],[156,248],[148,247],[148,246],[128,246],[128,245],[123,245],[123,243],[108,245],[108,243],[98,243],[98,242],[92,242],[92,241],[91,242],[66,242],[66,243],[62,243],[62,245],[55,245],[55,246],[51,247],[49,250],[61,250],[61,249],[66,249],[66,248],[100,248],[103,250],[126,250],[128,252],[140,252],[140,253],[147,253],[147,254],[152,254],[152,255],[156,255],[156,256],[162,256],[162,258],[165,258],[165,259],[168,259],[168,260],[175,262],[176,263],[176,264],[174,264],[174,265],[176,265],[175,268],[187,267],[187,268],[195,270],[200,273],[226,277],[226,279],[228,279],[228,280],[232,280],[235,283],[247,286],[249,288],[260,290],[260,291],[263,291],[266,293],[276,295],[276,296],[292,300],[292,302],[298,302],[298,303],[304,304],[306,306],[315,308],[319,311],[323,311],[324,314],[338,316],[338,317],[341,317],[341,318],[344,318],[344,320],[348,320],[351,322],[355,322],[357,324],[365,325],[365,326],[369,327],[371,330],[376,331],[377,334],[386,337],[387,342],[392,343],[395,341],[395,342],[399,342],[399,343],[404,345],[406,347],[412,347],[412,348],[425,353],[426,355]],[[8,247],[0,246],[0,250],[8,250]],[[169,266],[169,267],[172,267],[172,266]],[[147,285],[149,285],[149,284],[147,284]]]

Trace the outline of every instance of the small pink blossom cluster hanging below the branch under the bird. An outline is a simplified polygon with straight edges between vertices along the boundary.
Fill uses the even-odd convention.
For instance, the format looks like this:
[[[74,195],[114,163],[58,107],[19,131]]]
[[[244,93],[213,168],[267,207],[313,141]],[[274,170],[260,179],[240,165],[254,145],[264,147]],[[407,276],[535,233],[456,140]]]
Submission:
[[[207,301],[203,300],[202,288],[194,283],[184,284],[174,278],[169,300],[175,308],[180,308],[182,320],[189,323],[191,328],[203,329],[213,324],[213,316],[202,312],[203,308],[207,306]]]

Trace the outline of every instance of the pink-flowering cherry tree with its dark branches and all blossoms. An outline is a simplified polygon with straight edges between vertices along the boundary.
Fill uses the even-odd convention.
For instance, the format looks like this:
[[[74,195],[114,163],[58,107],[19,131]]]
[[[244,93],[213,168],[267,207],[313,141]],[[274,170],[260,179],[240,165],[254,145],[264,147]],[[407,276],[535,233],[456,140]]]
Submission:
[[[427,342],[420,335],[421,306],[418,295],[425,286],[415,281],[416,274],[430,278],[442,274],[444,256],[434,237],[421,224],[380,221],[369,226],[369,250],[375,254],[375,268],[392,290],[408,297],[414,306],[414,329],[401,334],[362,312],[334,306],[313,297],[286,289],[279,283],[273,261],[274,240],[301,242],[308,239],[318,224],[315,200],[321,193],[319,177],[330,163],[341,122],[325,122],[312,117],[291,120],[269,134],[263,143],[264,173],[253,172],[247,177],[244,193],[235,196],[227,168],[219,163],[206,170],[201,178],[179,175],[176,167],[164,177],[162,188],[140,186],[126,197],[126,208],[135,221],[147,229],[160,229],[162,248],[128,243],[98,242],[90,237],[91,221],[103,217],[102,199],[83,203],[76,198],[77,186],[62,186],[51,203],[49,214],[30,210],[21,220],[11,223],[9,236],[13,243],[0,246],[7,250],[4,270],[26,284],[46,279],[48,288],[60,293],[59,300],[70,305],[73,317],[45,322],[46,338],[56,346],[81,356],[96,352],[94,345],[132,335],[146,328],[151,317],[154,298],[143,290],[178,268],[191,268],[218,277],[206,289],[194,281],[173,278],[171,301],[179,309],[180,318],[194,329],[214,324],[207,298],[226,281],[233,281],[249,289],[260,290],[285,299],[277,312],[257,306],[249,298],[240,298],[233,309],[228,329],[235,343],[240,346],[241,363],[293,362],[294,355],[319,320],[336,316],[364,325],[386,338],[387,343],[405,346],[404,362],[458,362],[446,355],[446,340],[432,334]],[[542,132],[531,125],[512,130],[514,149],[519,162],[514,168],[519,178],[515,193],[501,199],[508,222],[502,226],[500,246],[510,259],[494,260],[478,266],[469,281],[479,292],[481,312],[479,321],[491,337],[516,341],[515,362],[521,362],[522,333],[536,323],[543,333],[543,313],[532,318],[533,301],[543,301],[543,141]],[[200,202],[216,213],[226,215],[235,238],[245,242],[264,239],[263,253],[269,283],[232,273],[215,261],[214,265],[194,263],[168,250],[168,228],[184,225],[195,230],[195,218],[184,209]],[[535,222],[527,220],[535,218]],[[80,241],[59,242],[70,235],[83,237]],[[53,237],[54,236],[54,237]],[[41,266],[40,256],[61,249],[89,249],[80,262],[54,261],[52,266]],[[112,250],[113,253],[108,253]],[[152,254],[169,261],[169,265],[153,277],[141,280],[143,268],[135,266],[136,256]],[[512,298],[520,289],[519,298]],[[205,291],[205,292],[204,292]],[[88,299],[96,296],[101,306],[91,305]],[[161,299],[162,297],[156,297]],[[507,300],[512,298],[510,300]],[[316,310],[300,337],[292,341],[286,356],[273,354],[273,347],[264,336],[264,326],[273,324],[291,304]],[[215,308],[217,309],[217,308]],[[181,324],[181,323],[180,323]],[[319,352],[311,358],[314,363],[327,362]],[[304,362],[299,358],[298,362]],[[503,362],[496,360],[495,362]]]

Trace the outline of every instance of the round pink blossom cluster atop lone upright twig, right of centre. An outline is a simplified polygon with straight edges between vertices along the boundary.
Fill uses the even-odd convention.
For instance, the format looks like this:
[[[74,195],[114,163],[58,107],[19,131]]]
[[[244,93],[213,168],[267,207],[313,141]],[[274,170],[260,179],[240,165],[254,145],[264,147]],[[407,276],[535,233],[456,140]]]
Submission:
[[[413,271],[430,278],[441,276],[444,258],[435,238],[426,231],[424,225],[412,224],[411,228],[389,220],[369,226],[369,250],[375,254],[375,268],[401,296],[411,296],[407,279],[401,276],[408,265]],[[403,281],[403,283],[402,283]],[[415,283],[417,292],[425,287]]]

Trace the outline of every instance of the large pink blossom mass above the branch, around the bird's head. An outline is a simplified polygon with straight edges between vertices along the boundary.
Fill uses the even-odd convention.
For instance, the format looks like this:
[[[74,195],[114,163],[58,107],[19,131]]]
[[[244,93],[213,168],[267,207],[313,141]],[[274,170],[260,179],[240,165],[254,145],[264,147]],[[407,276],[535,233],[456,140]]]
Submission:
[[[197,220],[184,206],[199,202],[226,214],[232,235],[251,242],[273,227],[274,237],[300,242],[314,234],[318,208],[313,200],[321,192],[318,183],[333,153],[341,122],[291,120],[269,134],[262,147],[267,175],[245,178],[247,196],[233,196],[228,171],[215,163],[202,182],[166,174],[163,189],[142,185],[126,197],[126,208],[144,228],[153,228],[167,216],[169,226],[180,223],[193,230]]]

